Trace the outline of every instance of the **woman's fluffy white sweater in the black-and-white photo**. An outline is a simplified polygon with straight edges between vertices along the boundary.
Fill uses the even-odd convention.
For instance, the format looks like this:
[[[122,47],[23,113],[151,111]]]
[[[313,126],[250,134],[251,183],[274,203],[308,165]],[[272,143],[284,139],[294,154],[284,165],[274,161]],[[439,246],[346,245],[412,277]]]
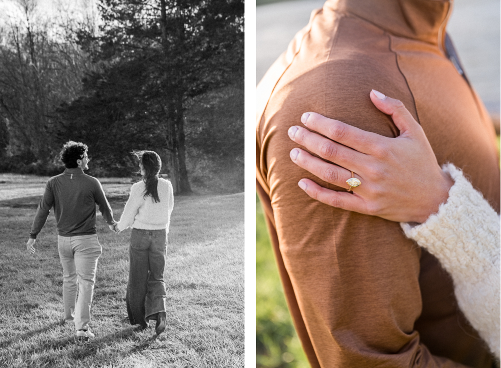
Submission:
[[[134,183],[129,199],[118,222],[118,230],[128,227],[146,230],[166,229],[169,232],[170,214],[174,208],[174,191],[169,180],[158,179],[158,198],[155,203],[151,196],[144,198],[146,185],[143,180]]]

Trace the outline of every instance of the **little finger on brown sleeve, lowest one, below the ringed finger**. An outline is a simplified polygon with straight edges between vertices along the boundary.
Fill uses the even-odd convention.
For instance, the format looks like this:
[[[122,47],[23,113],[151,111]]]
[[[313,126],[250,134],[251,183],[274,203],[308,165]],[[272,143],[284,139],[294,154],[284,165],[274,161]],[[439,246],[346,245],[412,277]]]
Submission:
[[[357,195],[347,192],[332,191],[306,178],[301,179],[298,182],[298,186],[305,191],[308,196],[326,205],[347,211],[367,214],[365,202]]]

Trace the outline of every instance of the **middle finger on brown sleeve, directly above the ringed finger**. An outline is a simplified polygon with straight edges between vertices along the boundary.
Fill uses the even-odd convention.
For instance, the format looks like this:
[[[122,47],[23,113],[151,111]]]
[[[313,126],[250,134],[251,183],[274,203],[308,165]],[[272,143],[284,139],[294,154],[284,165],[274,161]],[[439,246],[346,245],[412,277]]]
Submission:
[[[350,170],[358,171],[359,163],[364,161],[365,154],[300,126],[290,127],[288,134],[293,141],[309,151]]]

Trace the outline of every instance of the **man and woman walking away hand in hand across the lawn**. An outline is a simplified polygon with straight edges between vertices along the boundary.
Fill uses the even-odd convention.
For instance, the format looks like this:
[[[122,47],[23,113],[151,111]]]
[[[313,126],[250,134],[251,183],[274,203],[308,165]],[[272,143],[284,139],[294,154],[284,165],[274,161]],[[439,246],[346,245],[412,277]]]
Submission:
[[[129,280],[126,292],[130,324],[148,327],[155,320],[156,334],[165,330],[165,282],[170,214],[174,206],[172,184],[158,176],[162,162],[154,151],[134,152],[139,158],[141,180],[132,185],[119,222],[101,183],[84,173],[89,168],[88,147],[68,141],[60,158],[63,173],[47,181],[26,247],[35,253],[37,235],[54,207],[58,251],[63,266],[64,320],[75,323],[75,339],[94,337],[89,328],[90,309],[101,244],[96,234],[96,204],[115,233],[132,228],[129,247]],[[78,296],[77,296],[78,290]]]

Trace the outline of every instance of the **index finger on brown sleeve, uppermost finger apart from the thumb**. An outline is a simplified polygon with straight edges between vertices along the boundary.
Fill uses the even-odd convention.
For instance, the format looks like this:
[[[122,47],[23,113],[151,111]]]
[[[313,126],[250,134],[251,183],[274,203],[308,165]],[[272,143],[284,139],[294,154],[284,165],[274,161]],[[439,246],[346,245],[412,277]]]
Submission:
[[[309,129],[362,153],[371,152],[374,144],[382,139],[379,134],[329,119],[315,112],[305,112],[301,116],[301,122]]]

